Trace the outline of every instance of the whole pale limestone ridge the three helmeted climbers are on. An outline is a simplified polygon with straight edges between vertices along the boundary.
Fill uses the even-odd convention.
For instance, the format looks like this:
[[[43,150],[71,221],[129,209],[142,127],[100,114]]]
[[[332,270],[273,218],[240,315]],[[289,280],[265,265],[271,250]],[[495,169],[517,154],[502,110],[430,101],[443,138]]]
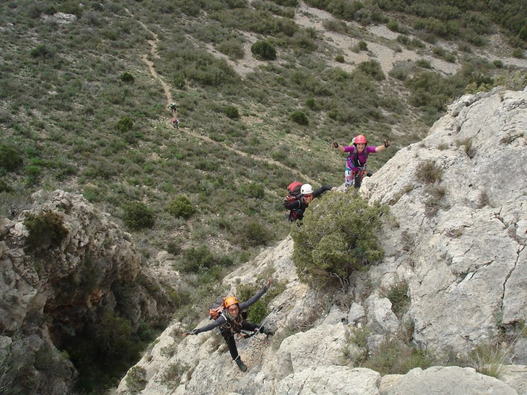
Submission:
[[[117,392],[527,393],[527,340],[521,335],[527,319],[525,108],[527,90],[463,96],[422,142],[397,152],[364,181],[363,196],[390,209],[379,238],[385,257],[368,273],[353,275],[344,297],[298,281],[290,238],[231,273],[224,280],[231,291],[269,271],[286,283],[270,303],[266,326],[277,330],[270,344],[264,335],[238,342],[246,373],[232,363],[218,334],[183,340],[181,332],[189,328],[175,322]],[[383,295],[400,283],[406,284],[408,305],[398,317]],[[413,342],[437,356],[466,355],[509,335],[514,341],[502,360],[501,380],[471,367],[381,377],[348,366],[345,354],[360,355],[365,347],[350,342],[349,334],[365,329],[371,352],[405,322],[412,323]]]

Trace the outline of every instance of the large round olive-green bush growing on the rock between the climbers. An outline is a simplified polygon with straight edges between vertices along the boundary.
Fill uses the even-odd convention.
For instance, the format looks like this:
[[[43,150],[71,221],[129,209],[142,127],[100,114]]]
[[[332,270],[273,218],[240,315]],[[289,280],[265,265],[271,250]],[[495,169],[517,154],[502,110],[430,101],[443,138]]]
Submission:
[[[345,283],[353,271],[380,260],[383,251],[375,231],[383,211],[354,194],[326,194],[306,212],[301,228],[292,231],[299,278],[319,285],[331,279]]]

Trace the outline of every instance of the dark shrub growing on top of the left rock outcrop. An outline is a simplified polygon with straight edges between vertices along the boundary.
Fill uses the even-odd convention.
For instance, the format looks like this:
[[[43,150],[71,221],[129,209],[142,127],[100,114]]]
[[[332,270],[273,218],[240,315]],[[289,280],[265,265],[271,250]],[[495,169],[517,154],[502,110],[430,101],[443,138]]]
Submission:
[[[23,224],[28,230],[27,242],[36,250],[58,246],[68,234],[62,216],[53,211],[27,213]]]

